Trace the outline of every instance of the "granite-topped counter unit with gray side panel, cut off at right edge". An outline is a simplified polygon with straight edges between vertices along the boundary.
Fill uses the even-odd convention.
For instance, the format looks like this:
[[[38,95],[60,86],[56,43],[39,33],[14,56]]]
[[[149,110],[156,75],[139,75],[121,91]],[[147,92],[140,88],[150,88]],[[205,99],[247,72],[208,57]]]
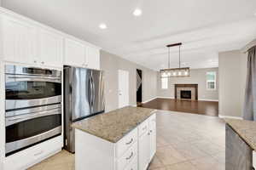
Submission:
[[[224,119],[226,122],[226,170],[256,167],[256,122]]]

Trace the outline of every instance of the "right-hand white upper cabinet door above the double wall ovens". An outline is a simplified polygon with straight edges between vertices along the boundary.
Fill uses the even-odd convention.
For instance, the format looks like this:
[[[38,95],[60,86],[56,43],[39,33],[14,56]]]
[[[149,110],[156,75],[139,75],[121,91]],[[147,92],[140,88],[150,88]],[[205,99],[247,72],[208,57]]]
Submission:
[[[51,31],[39,31],[39,62],[41,65],[62,66],[63,38]]]

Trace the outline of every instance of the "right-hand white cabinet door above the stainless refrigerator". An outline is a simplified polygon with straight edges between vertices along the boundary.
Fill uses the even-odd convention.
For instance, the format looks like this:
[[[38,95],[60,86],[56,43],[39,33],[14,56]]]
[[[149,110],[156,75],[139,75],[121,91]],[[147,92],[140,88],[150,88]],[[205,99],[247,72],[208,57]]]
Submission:
[[[100,50],[87,47],[86,62],[90,69],[100,70]]]

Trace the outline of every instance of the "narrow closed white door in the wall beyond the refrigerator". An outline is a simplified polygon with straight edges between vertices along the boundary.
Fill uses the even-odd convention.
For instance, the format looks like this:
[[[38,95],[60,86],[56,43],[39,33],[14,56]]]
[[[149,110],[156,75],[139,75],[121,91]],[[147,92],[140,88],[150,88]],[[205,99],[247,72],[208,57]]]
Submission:
[[[119,70],[119,108],[129,105],[129,72]]]

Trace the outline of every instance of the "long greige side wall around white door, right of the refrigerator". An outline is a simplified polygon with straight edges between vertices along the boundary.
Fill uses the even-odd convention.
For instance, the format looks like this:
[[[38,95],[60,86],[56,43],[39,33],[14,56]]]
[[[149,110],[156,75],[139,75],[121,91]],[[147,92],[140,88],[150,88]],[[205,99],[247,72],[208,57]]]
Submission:
[[[101,69],[105,71],[106,111],[118,108],[118,70],[129,71],[130,105],[137,103],[136,69],[143,71],[143,101],[156,97],[157,71],[149,70],[103,50],[101,51]]]

